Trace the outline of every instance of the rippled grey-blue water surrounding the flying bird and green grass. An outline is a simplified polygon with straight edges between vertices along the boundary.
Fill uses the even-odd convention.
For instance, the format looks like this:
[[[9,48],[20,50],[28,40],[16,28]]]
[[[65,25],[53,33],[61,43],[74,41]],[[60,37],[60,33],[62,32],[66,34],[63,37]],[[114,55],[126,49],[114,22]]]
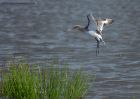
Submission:
[[[140,98],[139,0],[1,0],[0,63],[25,56],[32,63],[69,64],[96,73],[87,99]],[[85,25],[86,14],[113,18],[100,55],[87,34],[66,32]]]

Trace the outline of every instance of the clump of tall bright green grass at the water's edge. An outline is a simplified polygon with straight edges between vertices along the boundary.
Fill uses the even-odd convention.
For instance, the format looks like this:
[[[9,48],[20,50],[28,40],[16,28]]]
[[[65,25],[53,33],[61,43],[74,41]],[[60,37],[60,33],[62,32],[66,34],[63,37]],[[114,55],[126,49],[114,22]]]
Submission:
[[[82,99],[87,92],[87,77],[68,68],[32,70],[28,63],[10,63],[2,73],[2,97],[8,99]]]

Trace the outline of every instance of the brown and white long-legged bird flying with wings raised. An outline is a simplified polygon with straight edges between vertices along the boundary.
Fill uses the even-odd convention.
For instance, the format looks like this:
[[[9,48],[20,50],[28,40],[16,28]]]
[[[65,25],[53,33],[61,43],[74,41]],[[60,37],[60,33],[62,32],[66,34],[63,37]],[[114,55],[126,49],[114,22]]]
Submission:
[[[96,56],[97,56],[99,54],[100,43],[103,42],[103,44],[105,45],[105,41],[103,40],[103,37],[102,37],[103,27],[105,25],[113,23],[113,19],[109,19],[109,18],[95,19],[91,13],[88,14],[86,17],[87,17],[87,20],[88,20],[86,26],[74,25],[73,28],[69,29],[68,31],[79,30],[81,32],[85,32],[85,33],[90,34],[91,36],[93,36],[95,38],[96,42],[97,42],[97,45],[96,45]],[[96,24],[96,29],[95,30],[89,29],[89,26],[91,24],[90,17],[92,18],[92,20]]]

